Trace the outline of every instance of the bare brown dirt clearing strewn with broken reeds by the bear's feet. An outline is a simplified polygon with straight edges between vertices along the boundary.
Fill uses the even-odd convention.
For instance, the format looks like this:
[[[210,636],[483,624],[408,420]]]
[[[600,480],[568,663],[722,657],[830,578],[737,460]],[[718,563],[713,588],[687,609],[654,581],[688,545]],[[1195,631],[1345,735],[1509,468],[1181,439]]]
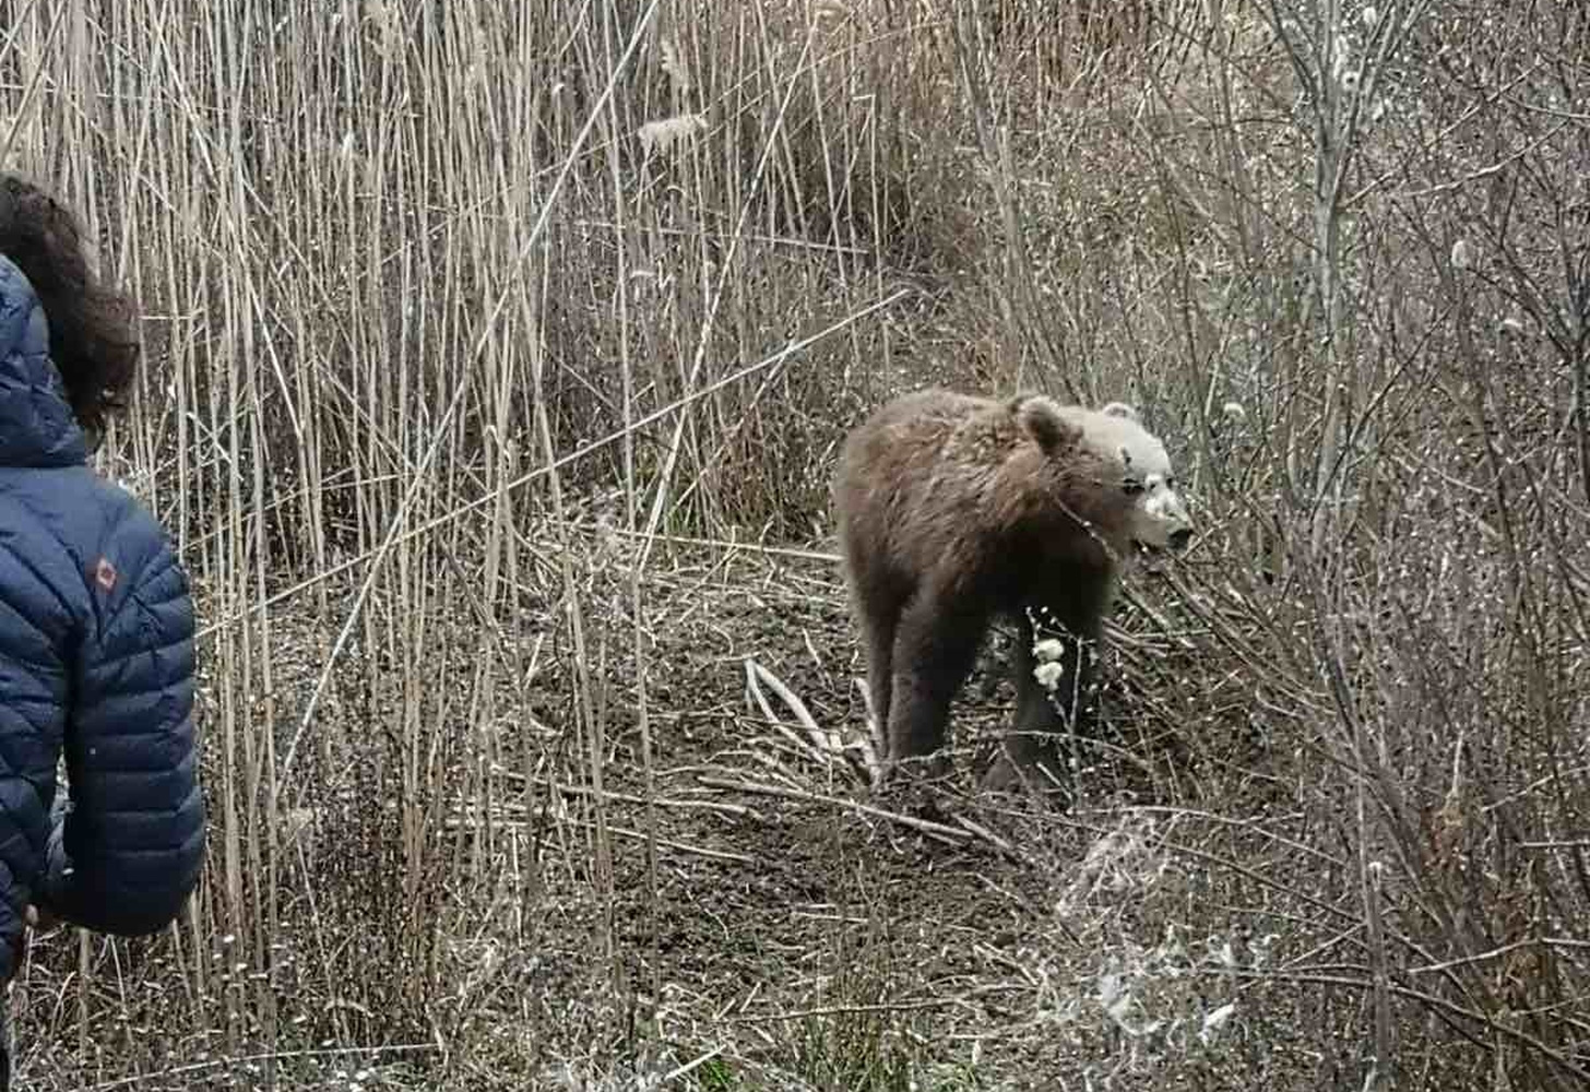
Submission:
[[[832,563],[770,564],[746,553],[720,560],[711,575],[677,571],[649,585],[655,795],[666,801],[655,809],[657,898],[650,904],[646,895],[644,841],[615,838],[611,920],[626,981],[646,995],[660,990],[658,1032],[681,1057],[727,1043],[730,1057],[787,1067],[790,1032],[770,1027],[811,1009],[887,1005],[906,1035],[937,1040],[927,1057],[964,1062],[976,1038],[978,1071],[1021,1073],[1011,1087],[1029,1087],[1027,1079],[1041,1087],[1045,1073],[1075,1076],[1076,1059],[1034,1054],[1021,1028],[1037,990],[1024,963],[1035,947],[1072,943],[1054,920],[1054,893],[1097,828],[1078,812],[1059,817],[970,795],[968,744],[986,747],[1010,715],[997,655],[1003,634],[957,701],[957,769],[938,796],[944,814],[927,812],[949,825],[964,815],[992,838],[962,830],[946,844],[890,817],[922,814],[921,796],[871,798],[844,763],[824,763],[771,728],[749,696],[747,656],[800,696],[822,728],[863,730],[855,685],[863,664]],[[611,634],[614,645],[625,625]],[[765,693],[793,728],[787,706]],[[549,698],[549,717],[560,701],[566,709]],[[606,788],[639,796],[633,712],[609,714],[617,723]],[[572,809],[588,803],[587,795],[564,800]],[[614,800],[607,822],[641,831],[644,807]],[[593,933],[601,914],[591,916],[584,862],[572,866],[556,901],[587,914],[549,925],[539,941],[569,974],[561,984],[542,981],[549,1014],[572,1001],[564,995],[571,979],[599,978]]]

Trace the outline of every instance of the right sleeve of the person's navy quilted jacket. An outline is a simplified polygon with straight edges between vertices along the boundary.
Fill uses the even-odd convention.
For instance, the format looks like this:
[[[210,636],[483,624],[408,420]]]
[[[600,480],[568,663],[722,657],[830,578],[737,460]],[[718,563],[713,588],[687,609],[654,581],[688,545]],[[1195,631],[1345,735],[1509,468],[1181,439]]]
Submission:
[[[70,800],[38,901],[84,928],[138,936],[175,920],[204,865],[192,601],[142,510],[86,575],[97,618],[73,672]]]

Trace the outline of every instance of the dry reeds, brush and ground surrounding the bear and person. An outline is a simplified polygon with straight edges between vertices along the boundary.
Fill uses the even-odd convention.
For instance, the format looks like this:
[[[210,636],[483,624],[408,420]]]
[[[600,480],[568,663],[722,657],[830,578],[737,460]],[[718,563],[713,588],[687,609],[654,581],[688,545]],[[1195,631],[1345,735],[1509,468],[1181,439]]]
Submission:
[[[180,927],[33,947],[27,1087],[1584,1087],[1584,5],[0,13],[213,811]],[[929,381],[1199,502],[1065,815],[833,752],[827,475]]]

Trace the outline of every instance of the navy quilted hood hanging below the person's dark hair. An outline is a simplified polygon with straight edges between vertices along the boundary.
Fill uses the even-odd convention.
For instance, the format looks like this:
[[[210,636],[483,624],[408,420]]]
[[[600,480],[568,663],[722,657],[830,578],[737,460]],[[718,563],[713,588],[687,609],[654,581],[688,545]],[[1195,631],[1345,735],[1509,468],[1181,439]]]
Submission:
[[[0,466],[70,466],[83,429],[49,359],[49,323],[21,269],[0,254]]]

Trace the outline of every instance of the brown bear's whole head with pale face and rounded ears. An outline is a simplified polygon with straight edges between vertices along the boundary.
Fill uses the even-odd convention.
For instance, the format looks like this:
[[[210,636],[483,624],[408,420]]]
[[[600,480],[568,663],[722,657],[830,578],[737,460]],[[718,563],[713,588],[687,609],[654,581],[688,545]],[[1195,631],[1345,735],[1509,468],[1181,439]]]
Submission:
[[[1192,539],[1192,518],[1177,491],[1165,445],[1130,405],[1110,402],[1089,410],[1030,396],[1018,399],[1014,409],[1045,455],[1073,469],[1089,490],[1100,490],[1089,498],[1091,513],[1121,513],[1124,536],[1150,550],[1181,550]]]

